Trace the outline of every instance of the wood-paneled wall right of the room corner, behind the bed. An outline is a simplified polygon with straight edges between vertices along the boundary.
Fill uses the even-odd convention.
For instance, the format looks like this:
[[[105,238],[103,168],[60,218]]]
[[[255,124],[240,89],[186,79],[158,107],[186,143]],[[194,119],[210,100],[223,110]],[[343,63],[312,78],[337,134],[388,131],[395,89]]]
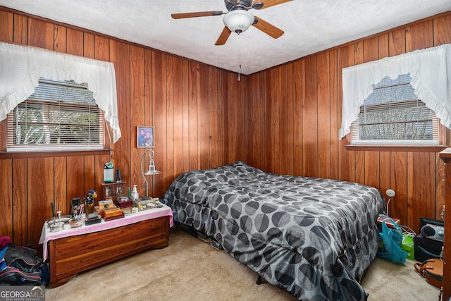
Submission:
[[[273,173],[333,178],[379,188],[390,216],[419,233],[421,216],[440,219],[444,166],[436,152],[346,149],[342,68],[451,43],[451,12],[321,51],[249,76],[246,161]]]

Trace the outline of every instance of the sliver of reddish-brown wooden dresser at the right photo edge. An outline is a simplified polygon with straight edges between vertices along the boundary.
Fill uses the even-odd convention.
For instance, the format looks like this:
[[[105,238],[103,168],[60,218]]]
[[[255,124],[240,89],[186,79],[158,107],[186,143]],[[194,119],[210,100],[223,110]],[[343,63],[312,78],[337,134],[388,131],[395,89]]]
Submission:
[[[443,252],[443,300],[451,297],[451,147],[440,152],[445,162],[445,242]]]

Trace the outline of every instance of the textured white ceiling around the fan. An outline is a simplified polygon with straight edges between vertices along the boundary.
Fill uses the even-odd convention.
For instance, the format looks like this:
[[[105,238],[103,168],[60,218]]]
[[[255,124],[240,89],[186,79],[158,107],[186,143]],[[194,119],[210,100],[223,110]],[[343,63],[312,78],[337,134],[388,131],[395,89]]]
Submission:
[[[264,2],[264,0],[261,0]],[[285,34],[257,28],[214,43],[223,16],[175,20],[171,13],[227,11],[223,0],[0,0],[0,6],[94,30],[226,70],[251,74],[414,20],[451,11],[450,0],[293,0],[249,10]]]

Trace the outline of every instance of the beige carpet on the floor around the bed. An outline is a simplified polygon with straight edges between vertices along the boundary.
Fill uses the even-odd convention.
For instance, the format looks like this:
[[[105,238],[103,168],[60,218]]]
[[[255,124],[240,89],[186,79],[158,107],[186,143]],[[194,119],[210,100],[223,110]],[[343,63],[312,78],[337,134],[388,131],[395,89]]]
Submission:
[[[439,290],[414,271],[414,262],[376,259],[362,285],[369,300],[438,300]],[[169,246],[148,250],[79,274],[47,288],[46,300],[296,300],[223,250],[183,231],[171,231]]]

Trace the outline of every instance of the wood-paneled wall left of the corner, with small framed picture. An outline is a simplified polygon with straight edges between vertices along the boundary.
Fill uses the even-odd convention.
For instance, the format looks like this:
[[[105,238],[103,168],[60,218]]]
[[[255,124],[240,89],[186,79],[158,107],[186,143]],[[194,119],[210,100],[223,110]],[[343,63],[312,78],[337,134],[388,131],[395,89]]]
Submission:
[[[0,235],[9,235],[16,245],[38,244],[42,224],[51,217],[51,201],[67,214],[70,200],[87,190],[97,190],[101,199],[103,166],[110,159],[128,186],[137,184],[143,195],[138,125],[154,126],[155,163],[161,174],[147,176],[152,196],[162,197],[184,171],[244,159],[245,116],[240,108],[245,77],[238,81],[234,73],[8,8],[0,8],[0,42],[113,62],[122,131],[111,154],[0,156]],[[0,123],[0,140],[5,125]],[[144,168],[148,164],[146,159]]]

